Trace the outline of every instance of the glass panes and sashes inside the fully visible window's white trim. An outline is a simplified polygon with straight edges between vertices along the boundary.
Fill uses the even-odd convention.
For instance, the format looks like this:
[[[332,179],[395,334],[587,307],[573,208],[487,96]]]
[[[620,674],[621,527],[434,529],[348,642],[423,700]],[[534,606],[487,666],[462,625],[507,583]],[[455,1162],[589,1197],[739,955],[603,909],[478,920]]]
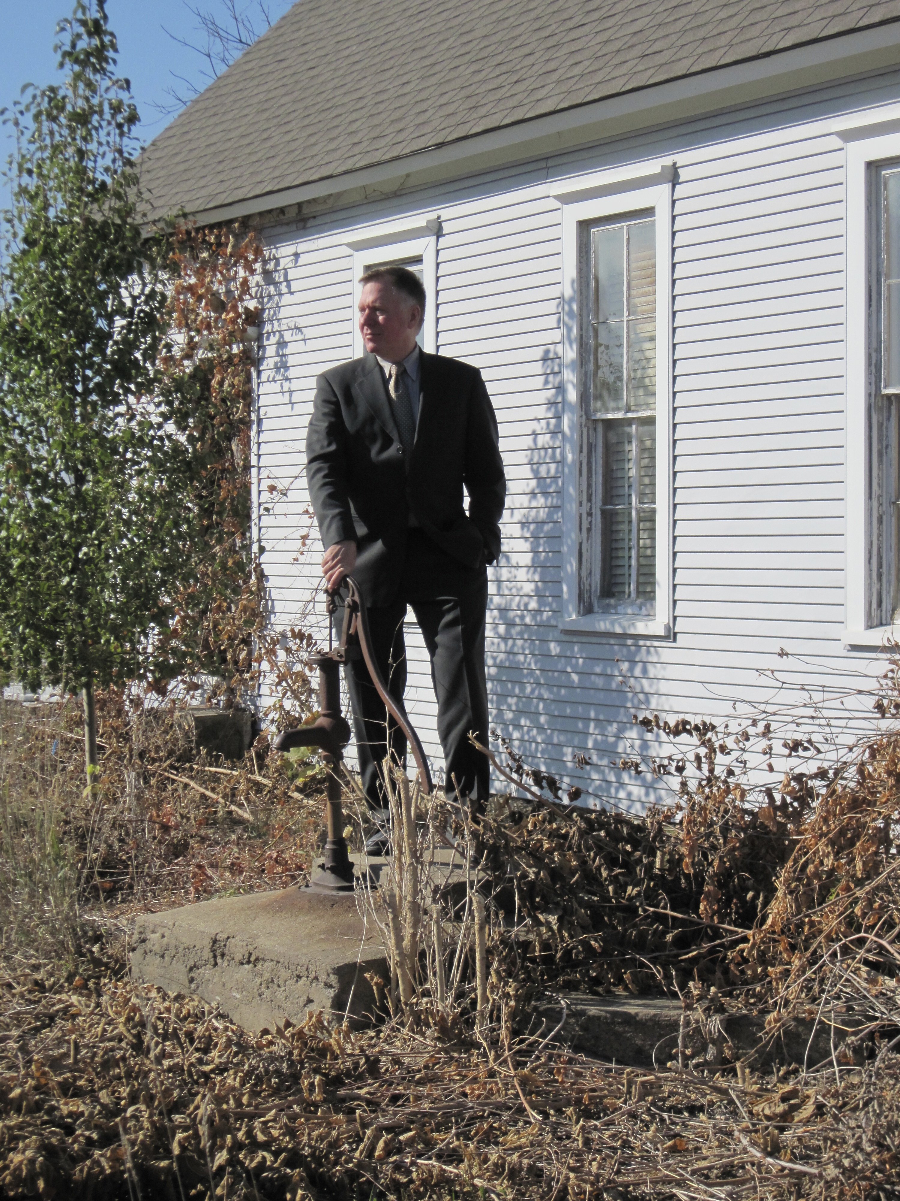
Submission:
[[[637,219],[588,227],[580,255],[588,300],[582,614],[654,613],[655,246],[655,221]]]

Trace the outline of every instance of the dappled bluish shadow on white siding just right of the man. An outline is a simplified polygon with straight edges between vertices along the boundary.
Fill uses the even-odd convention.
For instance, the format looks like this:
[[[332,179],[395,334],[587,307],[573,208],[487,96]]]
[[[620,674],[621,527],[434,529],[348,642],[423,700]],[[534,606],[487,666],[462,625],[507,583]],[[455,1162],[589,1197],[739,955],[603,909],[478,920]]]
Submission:
[[[660,649],[562,628],[563,501],[569,490],[569,512],[578,512],[583,449],[575,431],[565,434],[578,422],[577,384],[563,374],[564,345],[578,345],[575,281],[560,293],[557,336],[547,337],[533,372],[521,376],[523,393],[535,398],[534,417],[510,434],[498,414],[502,443],[512,453],[488,610],[492,722],[564,791],[576,787],[586,803],[642,811],[668,794],[646,773],[623,776],[618,765],[640,755],[635,743],[644,730],[632,711],[665,695]]]

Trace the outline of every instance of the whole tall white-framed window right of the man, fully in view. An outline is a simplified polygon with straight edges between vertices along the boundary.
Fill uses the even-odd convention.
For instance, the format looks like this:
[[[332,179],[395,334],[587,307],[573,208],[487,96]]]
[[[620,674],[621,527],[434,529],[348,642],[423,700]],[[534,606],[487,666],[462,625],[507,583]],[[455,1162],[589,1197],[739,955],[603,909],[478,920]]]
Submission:
[[[560,625],[668,637],[673,172],[635,171],[552,192],[563,204]]]

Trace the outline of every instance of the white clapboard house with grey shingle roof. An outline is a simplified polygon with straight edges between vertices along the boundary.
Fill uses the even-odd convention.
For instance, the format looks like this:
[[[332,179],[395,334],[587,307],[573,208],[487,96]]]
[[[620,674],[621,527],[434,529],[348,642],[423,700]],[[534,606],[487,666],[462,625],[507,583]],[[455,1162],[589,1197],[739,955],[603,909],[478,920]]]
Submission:
[[[276,622],[316,609],[316,376],[360,353],[356,281],[397,261],[425,347],[497,410],[488,683],[532,761],[629,803],[608,761],[634,711],[871,673],[900,605],[898,0],[301,0],[151,144],[144,186],[265,239]]]

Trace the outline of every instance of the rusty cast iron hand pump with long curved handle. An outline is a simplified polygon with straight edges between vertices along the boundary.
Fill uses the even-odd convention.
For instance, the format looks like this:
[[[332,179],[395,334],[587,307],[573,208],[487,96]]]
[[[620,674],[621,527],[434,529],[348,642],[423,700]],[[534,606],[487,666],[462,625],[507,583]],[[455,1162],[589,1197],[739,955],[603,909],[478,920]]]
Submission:
[[[342,588],[347,590],[347,598],[343,602],[341,641],[337,646],[332,646],[332,616],[337,613],[341,603],[338,596]],[[322,759],[328,769],[328,841],[323,871],[310,882],[310,886],[317,891],[343,892],[353,889],[353,864],[347,854],[347,841],[342,833],[343,813],[338,765],[343,760],[343,749],[350,741],[350,727],[341,713],[341,663],[348,663],[360,658],[360,655],[362,656],[372,683],[378,689],[378,695],[413,748],[413,758],[426,793],[431,793],[432,782],[428,761],[425,758],[419,735],[409,724],[403,710],[388,692],[388,686],[378,670],[378,664],[372,655],[366,605],[359,584],[352,575],[344,576],[341,585],[334,592],[328,593],[325,610],[329,621],[329,649],[319,655],[310,656],[310,665],[319,669],[319,716],[312,725],[284,730],[275,739],[272,748],[275,751],[290,751],[292,747],[318,747],[322,751]]]

